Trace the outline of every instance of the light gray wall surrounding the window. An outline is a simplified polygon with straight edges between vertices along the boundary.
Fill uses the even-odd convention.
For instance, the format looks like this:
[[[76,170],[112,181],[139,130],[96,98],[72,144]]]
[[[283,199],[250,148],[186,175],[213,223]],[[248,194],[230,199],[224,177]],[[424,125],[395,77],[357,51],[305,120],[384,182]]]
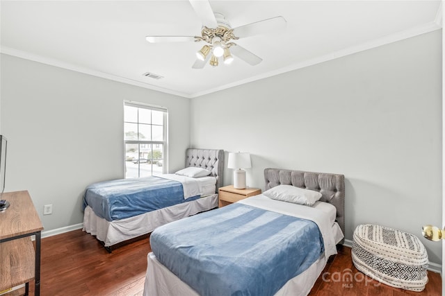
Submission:
[[[168,108],[169,168],[183,168],[190,99],[1,55],[6,191],[29,191],[44,231],[82,223],[85,187],[124,176],[124,100]]]

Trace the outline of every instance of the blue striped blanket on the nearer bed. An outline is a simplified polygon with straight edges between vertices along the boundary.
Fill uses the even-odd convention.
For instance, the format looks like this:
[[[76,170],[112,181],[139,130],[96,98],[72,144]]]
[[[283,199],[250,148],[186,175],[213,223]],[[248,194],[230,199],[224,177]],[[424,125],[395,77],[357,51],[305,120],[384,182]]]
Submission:
[[[163,225],[150,245],[200,295],[274,295],[324,251],[316,223],[245,204]]]

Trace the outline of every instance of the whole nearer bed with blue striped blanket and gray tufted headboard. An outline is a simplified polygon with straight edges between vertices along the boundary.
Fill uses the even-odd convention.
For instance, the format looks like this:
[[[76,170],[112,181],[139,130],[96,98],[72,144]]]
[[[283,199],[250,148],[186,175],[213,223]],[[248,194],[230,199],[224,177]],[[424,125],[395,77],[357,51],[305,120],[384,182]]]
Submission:
[[[266,168],[264,177],[275,190],[156,229],[143,295],[308,295],[344,237],[344,176]],[[319,194],[279,185],[322,196],[311,207],[280,200]]]

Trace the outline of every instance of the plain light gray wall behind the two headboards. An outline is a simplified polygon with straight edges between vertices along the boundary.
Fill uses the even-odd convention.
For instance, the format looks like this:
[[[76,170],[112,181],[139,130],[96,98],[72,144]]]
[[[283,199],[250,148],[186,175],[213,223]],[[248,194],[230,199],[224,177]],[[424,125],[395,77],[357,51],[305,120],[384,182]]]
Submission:
[[[261,189],[267,167],[342,173],[347,239],[360,223],[420,237],[442,225],[442,31],[193,98],[191,144],[252,153]]]

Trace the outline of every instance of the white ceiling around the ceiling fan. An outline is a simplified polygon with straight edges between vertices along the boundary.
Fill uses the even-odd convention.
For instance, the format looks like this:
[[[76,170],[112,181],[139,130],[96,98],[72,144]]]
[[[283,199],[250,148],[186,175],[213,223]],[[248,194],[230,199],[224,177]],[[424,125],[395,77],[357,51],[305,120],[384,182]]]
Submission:
[[[237,41],[259,55],[192,69],[202,43],[150,44],[146,35],[200,35],[184,1],[1,1],[1,52],[161,92],[195,97],[442,27],[441,1],[210,1],[232,28],[282,16],[286,29]],[[163,76],[154,80],[145,72]]]

